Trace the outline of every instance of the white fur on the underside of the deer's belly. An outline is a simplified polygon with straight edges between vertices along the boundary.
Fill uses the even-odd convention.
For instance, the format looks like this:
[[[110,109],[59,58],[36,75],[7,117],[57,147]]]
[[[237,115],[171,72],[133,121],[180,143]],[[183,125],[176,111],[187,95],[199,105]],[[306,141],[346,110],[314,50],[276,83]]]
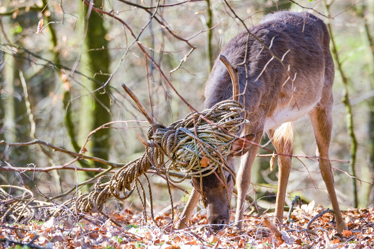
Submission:
[[[296,121],[310,112],[315,106],[316,103],[313,103],[313,105],[310,106],[303,106],[299,109],[297,109],[297,107],[292,109],[290,106],[286,106],[283,109],[277,109],[273,116],[266,119],[264,131],[274,130],[280,127],[283,123]]]

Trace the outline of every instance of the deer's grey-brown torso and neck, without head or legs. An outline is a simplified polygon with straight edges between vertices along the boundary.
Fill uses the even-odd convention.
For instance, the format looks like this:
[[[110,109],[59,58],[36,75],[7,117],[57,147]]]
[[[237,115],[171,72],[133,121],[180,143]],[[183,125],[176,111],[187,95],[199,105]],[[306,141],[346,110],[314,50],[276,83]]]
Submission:
[[[249,31],[267,47],[271,44],[273,55],[280,59],[284,56],[286,67],[272,59],[253,35],[248,38],[247,31],[223,48],[221,54],[237,65],[240,102],[249,111],[247,119],[252,125],[263,127],[267,120],[274,119],[274,124],[265,128],[276,128],[294,121],[321,101],[324,89],[331,91],[332,81],[325,80],[325,71],[334,74],[334,63],[328,30],[321,19],[306,12],[282,11],[265,16]],[[205,86],[205,108],[231,97],[229,72],[217,58]]]

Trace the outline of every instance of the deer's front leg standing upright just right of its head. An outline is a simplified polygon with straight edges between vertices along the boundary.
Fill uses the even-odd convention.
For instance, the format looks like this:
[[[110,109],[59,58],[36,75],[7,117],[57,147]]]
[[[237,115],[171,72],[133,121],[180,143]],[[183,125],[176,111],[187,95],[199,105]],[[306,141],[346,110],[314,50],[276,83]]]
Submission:
[[[254,142],[260,143],[263,130],[255,134],[256,134],[256,138]],[[253,161],[256,157],[257,150],[258,150],[258,147],[255,145],[252,145],[251,148],[249,148],[248,152],[242,156],[241,161],[240,161],[240,169],[239,169],[239,172],[237,174],[237,179],[236,179],[237,204],[236,204],[236,216],[235,216],[235,224],[234,224],[234,226],[238,230],[242,230],[241,220],[243,220],[245,196],[249,188],[249,184],[251,183],[251,168],[252,168]]]

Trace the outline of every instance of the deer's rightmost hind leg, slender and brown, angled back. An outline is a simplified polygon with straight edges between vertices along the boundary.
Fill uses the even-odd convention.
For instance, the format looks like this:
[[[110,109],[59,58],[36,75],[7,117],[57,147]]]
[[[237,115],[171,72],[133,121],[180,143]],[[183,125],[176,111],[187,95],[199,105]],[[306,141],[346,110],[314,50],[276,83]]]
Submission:
[[[339,232],[341,232],[343,230],[347,230],[348,228],[344,223],[343,217],[341,217],[341,212],[334,189],[334,176],[332,175],[331,162],[329,160],[322,159],[328,159],[328,150],[331,140],[332,94],[327,98],[327,100],[327,105],[319,104],[315,107],[315,109],[312,110],[312,112],[309,113],[309,116],[310,120],[312,121],[319,156],[321,156],[321,158],[318,159],[319,169],[326,184],[327,193],[331,200],[332,208],[334,209],[336,228]]]

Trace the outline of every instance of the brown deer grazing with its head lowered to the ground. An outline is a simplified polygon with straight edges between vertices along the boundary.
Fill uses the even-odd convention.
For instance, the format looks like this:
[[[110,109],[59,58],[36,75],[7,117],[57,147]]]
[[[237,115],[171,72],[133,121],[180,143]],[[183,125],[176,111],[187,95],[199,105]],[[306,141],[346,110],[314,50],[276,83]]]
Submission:
[[[309,115],[317,143],[319,169],[334,209],[336,228],[347,230],[341,216],[334,189],[328,150],[331,139],[333,103],[332,83],[334,62],[329,49],[330,36],[324,22],[316,16],[302,12],[277,12],[267,15],[260,24],[244,31],[227,43],[221,52],[221,60],[215,60],[205,86],[205,108],[230,99],[239,100],[248,110],[249,120],[243,127],[245,140],[238,138],[228,156],[229,166],[234,168],[234,157],[242,156],[237,174],[237,208],[235,226],[242,228],[246,192],[251,180],[251,167],[258,146],[266,133],[272,139],[278,155],[279,180],[276,196],[275,218],[282,224],[286,187],[291,169],[293,152],[292,122]],[[254,35],[257,37],[254,37]],[[264,46],[258,41],[270,48]],[[282,58],[282,63],[273,58]],[[227,58],[225,60],[225,57]],[[236,65],[234,69],[231,65]],[[225,66],[226,65],[226,66]],[[233,95],[232,95],[233,93]],[[221,179],[218,179],[219,176]],[[229,172],[217,172],[203,177],[202,191],[209,224],[214,230],[230,222],[229,203],[222,178],[227,179],[229,198],[233,180]],[[188,224],[190,215],[200,197],[200,180],[192,178],[194,189],[182,213],[177,228]]]

